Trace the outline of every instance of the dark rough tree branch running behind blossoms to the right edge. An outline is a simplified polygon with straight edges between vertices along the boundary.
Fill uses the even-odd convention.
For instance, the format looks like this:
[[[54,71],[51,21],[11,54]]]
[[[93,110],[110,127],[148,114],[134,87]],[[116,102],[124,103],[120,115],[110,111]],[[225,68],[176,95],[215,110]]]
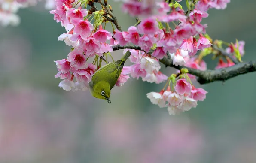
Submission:
[[[126,45],[126,46],[116,45],[116,46],[113,46],[112,48],[113,48],[113,51],[119,50],[119,49],[141,50],[139,46],[133,46],[133,45]],[[153,50],[150,50],[148,54],[152,54],[152,52]],[[237,63],[234,66],[226,67],[222,69],[214,69],[214,70],[208,69],[206,71],[192,69],[186,66],[174,66],[172,64],[172,60],[166,57],[159,61],[163,63],[165,66],[174,67],[175,69],[179,69],[179,70],[182,68],[188,69],[189,74],[192,74],[198,77],[197,80],[200,84],[206,84],[206,83],[215,82],[215,81],[226,81],[238,75],[256,71],[256,60],[246,62],[246,63]]]

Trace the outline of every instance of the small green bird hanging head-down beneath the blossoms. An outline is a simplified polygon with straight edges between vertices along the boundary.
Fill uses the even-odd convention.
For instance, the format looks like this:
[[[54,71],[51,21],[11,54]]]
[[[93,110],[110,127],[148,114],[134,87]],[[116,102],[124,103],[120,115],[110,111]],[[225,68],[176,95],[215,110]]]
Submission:
[[[110,101],[110,90],[116,84],[125,61],[130,57],[131,52],[127,51],[125,55],[113,63],[108,63],[99,68],[91,77],[89,82],[90,92],[93,97]]]

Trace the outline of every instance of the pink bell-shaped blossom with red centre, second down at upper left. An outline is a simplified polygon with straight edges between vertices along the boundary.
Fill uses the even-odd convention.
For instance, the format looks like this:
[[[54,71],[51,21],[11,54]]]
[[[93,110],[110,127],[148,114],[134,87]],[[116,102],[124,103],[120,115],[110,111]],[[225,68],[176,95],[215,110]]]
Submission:
[[[93,30],[93,25],[89,21],[84,21],[79,18],[74,18],[71,22],[75,25],[74,32],[79,34],[82,39],[87,39],[88,36],[91,35],[91,31]]]

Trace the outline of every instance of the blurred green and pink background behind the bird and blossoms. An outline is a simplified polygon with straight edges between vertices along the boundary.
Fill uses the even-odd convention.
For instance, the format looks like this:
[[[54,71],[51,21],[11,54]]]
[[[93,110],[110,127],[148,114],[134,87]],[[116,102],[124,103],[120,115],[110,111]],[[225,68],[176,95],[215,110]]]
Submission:
[[[123,30],[134,24],[121,3],[110,4]],[[203,20],[213,39],[244,40],[244,61],[256,60],[255,6],[255,0],[232,0]],[[164,84],[133,78],[113,89],[109,105],[89,91],[58,87],[53,60],[66,58],[70,47],[58,41],[65,30],[43,3],[18,15],[18,27],[0,29],[0,163],[256,162],[255,72],[200,86],[207,98],[180,115],[146,98]]]

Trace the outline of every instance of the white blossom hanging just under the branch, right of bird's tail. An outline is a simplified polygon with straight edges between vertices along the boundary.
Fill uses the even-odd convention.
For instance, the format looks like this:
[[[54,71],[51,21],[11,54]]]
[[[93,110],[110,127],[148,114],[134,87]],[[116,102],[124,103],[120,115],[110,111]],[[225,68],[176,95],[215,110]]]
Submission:
[[[151,57],[143,57],[140,62],[140,67],[145,69],[146,72],[151,73],[153,71],[159,71],[161,68],[159,61]]]

